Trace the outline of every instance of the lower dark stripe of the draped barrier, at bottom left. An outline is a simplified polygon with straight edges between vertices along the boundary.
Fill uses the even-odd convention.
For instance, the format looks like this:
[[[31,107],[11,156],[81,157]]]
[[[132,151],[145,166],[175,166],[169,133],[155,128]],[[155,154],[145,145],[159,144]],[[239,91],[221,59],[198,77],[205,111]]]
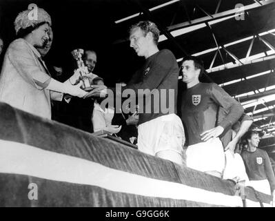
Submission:
[[[27,175],[0,173],[0,206],[217,207],[188,200],[119,193],[98,186],[57,182],[38,177],[30,177],[30,180],[37,184],[38,200],[28,200],[30,189]]]

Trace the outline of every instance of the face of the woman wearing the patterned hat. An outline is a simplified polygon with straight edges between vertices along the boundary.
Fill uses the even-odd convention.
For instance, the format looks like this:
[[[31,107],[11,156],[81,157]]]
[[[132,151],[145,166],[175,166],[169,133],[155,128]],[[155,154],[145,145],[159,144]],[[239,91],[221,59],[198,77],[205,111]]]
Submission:
[[[43,48],[45,44],[47,44],[47,41],[49,40],[49,28],[50,26],[48,23],[44,23],[42,26],[39,26],[38,28],[34,29],[30,35],[31,35],[31,44],[34,47],[37,48]]]

